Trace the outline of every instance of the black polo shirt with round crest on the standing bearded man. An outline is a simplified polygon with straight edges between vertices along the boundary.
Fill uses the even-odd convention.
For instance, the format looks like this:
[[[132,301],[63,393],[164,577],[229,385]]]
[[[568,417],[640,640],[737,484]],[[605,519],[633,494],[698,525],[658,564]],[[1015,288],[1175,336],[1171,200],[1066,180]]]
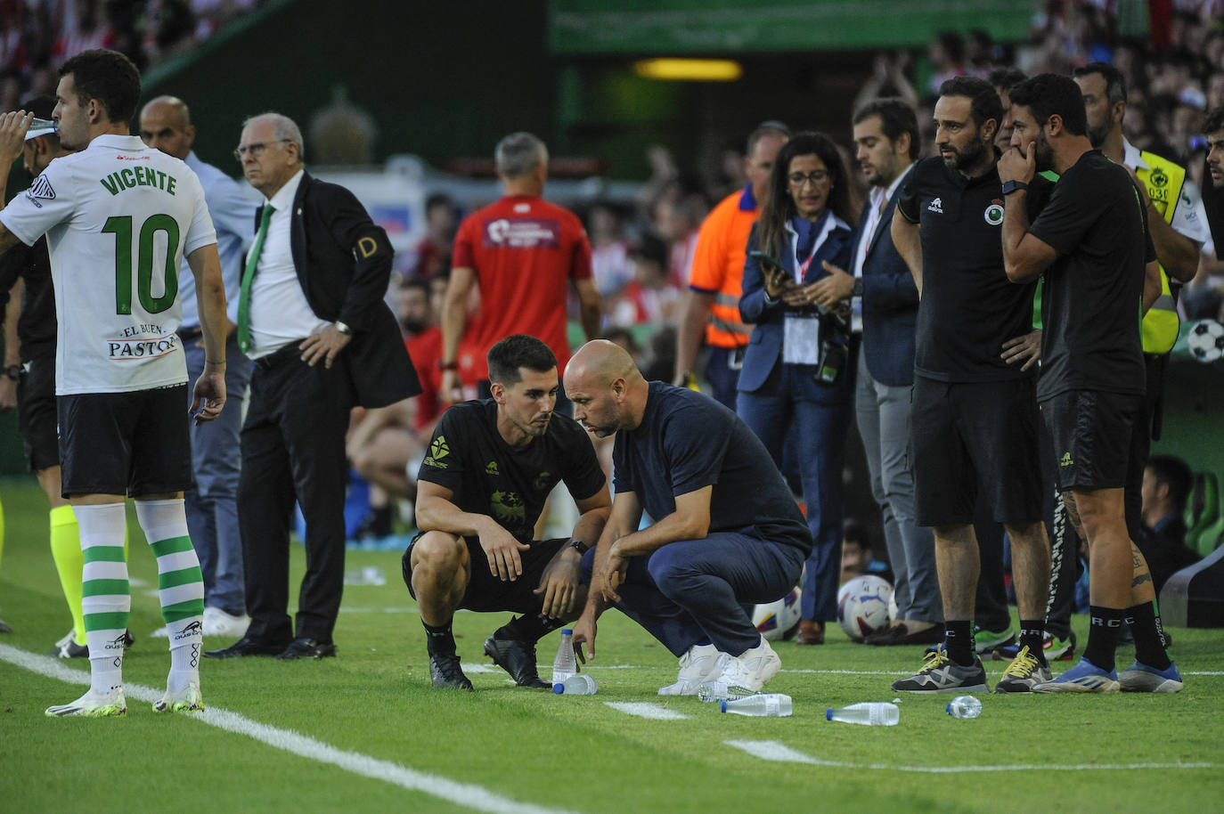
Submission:
[[[1016,285],[1002,266],[1004,201],[999,170],[967,179],[942,158],[914,166],[897,209],[922,235],[922,297],[918,301],[914,372],[941,382],[1024,378],[1001,357],[1002,343],[1033,329],[1036,282]],[[1029,185],[1029,212],[1049,182]]]

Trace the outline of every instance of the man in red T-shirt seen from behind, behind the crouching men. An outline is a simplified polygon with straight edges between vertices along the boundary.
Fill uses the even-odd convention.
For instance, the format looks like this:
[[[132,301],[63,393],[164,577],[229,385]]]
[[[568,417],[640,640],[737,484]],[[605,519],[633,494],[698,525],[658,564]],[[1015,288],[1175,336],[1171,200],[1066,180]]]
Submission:
[[[548,177],[548,148],[531,133],[510,133],[498,142],[494,160],[504,193],[460,224],[442,308],[441,395],[452,401],[463,400],[460,372],[464,379],[479,379],[480,395],[488,397],[485,357],[513,334],[539,337],[563,373],[569,360],[567,283],[578,293],[586,338],[600,330],[601,304],[586,231],[572,212],[540,197]],[[469,313],[474,284],[480,307]]]

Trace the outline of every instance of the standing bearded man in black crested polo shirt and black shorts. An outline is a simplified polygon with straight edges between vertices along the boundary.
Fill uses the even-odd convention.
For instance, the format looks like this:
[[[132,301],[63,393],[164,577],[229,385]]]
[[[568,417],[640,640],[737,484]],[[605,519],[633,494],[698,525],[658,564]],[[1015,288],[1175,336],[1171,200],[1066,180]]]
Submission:
[[[979,490],[1011,539],[1020,605],[1021,649],[996,690],[1031,692],[1050,677],[1042,651],[1049,545],[1033,373],[1002,357],[1007,340],[1032,329],[1033,285],[1009,283],[998,245],[1004,196],[994,138],[1001,118],[989,82],[946,81],[935,104],[940,155],[918,163],[897,202],[902,217],[892,219],[894,242],[920,297],[914,493],[918,523],[935,532],[945,619],[942,645],[917,674],[894,682],[895,690],[987,689],[973,641]]]

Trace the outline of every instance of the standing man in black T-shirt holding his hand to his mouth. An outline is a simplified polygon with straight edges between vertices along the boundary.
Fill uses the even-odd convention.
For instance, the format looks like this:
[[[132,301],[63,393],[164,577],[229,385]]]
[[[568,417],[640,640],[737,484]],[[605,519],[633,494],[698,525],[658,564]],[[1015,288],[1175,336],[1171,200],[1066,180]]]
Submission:
[[[1012,148],[999,165],[1007,277],[1027,283],[1045,275],[1038,399],[1054,437],[1059,488],[1088,541],[1092,569],[1084,655],[1033,689],[1175,693],[1181,676],[1164,649],[1152,577],[1127,534],[1122,498],[1136,468],[1142,479],[1137,447],[1147,428],[1140,420],[1144,371],[1135,304],[1142,300],[1147,311],[1157,299],[1157,252],[1142,190],[1092,148],[1078,92],[1054,73],[1012,88]],[[1033,222],[1028,185],[1044,169],[1060,177]],[[1136,661],[1119,674],[1114,651],[1124,622],[1135,635]]]

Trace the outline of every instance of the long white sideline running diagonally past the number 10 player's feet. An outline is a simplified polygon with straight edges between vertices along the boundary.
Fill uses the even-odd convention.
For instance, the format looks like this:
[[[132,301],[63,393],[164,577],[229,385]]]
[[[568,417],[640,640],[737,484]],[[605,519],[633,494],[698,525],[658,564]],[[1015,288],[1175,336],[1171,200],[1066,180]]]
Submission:
[[[87,672],[65,667],[59,663],[59,660],[50,656],[37,656],[6,644],[0,644],[0,661],[7,661],[11,665],[45,676],[47,678],[54,678],[70,684],[89,683],[89,673]],[[129,699],[137,699],[151,704],[162,698],[162,690],[141,684],[125,683],[124,692]],[[182,717],[196,719],[235,734],[245,734],[269,747],[306,758],[307,760],[332,764],[355,775],[382,780],[409,791],[422,792],[479,812],[493,812],[496,814],[570,814],[568,809],[520,803],[491,792],[482,786],[448,780],[438,775],[409,769],[389,760],[379,760],[357,752],[338,749],[293,730],[282,730],[267,723],[259,723],[245,715],[229,710],[211,706],[200,715]]]

